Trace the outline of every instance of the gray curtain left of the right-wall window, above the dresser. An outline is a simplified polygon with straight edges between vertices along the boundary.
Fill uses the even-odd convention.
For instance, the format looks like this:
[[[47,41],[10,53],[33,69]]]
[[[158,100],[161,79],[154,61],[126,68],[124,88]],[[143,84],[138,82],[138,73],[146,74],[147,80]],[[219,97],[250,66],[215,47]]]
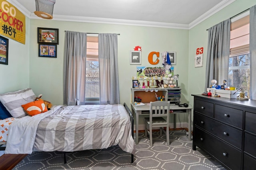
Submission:
[[[230,23],[228,19],[208,29],[205,91],[212,79],[217,80],[217,84],[228,80]]]

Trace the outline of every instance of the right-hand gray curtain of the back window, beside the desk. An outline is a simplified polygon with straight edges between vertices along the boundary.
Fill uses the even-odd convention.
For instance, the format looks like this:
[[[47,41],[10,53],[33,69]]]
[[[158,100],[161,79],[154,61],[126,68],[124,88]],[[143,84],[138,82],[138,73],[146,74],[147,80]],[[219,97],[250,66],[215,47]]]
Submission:
[[[100,33],[100,104],[120,104],[117,63],[117,34]]]

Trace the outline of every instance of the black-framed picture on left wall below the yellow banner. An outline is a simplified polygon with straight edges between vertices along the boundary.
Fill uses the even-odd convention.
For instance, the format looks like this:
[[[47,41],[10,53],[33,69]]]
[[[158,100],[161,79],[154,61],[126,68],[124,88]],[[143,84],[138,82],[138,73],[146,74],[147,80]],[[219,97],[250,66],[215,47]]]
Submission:
[[[9,39],[0,36],[0,64],[8,65],[8,41]]]

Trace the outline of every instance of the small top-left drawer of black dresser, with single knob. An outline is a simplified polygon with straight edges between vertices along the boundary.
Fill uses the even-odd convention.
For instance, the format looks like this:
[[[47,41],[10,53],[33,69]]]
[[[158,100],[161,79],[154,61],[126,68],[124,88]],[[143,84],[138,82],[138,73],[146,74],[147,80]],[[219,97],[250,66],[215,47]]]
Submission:
[[[205,102],[202,100],[196,100],[196,108],[195,111],[198,113],[213,117],[213,103]]]

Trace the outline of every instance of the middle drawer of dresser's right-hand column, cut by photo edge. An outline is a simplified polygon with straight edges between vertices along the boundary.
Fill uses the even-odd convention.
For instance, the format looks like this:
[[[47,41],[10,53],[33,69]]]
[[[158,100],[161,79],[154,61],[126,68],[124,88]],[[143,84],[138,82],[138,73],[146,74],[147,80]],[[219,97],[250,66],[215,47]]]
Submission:
[[[256,137],[248,133],[244,135],[244,152],[256,157]]]

